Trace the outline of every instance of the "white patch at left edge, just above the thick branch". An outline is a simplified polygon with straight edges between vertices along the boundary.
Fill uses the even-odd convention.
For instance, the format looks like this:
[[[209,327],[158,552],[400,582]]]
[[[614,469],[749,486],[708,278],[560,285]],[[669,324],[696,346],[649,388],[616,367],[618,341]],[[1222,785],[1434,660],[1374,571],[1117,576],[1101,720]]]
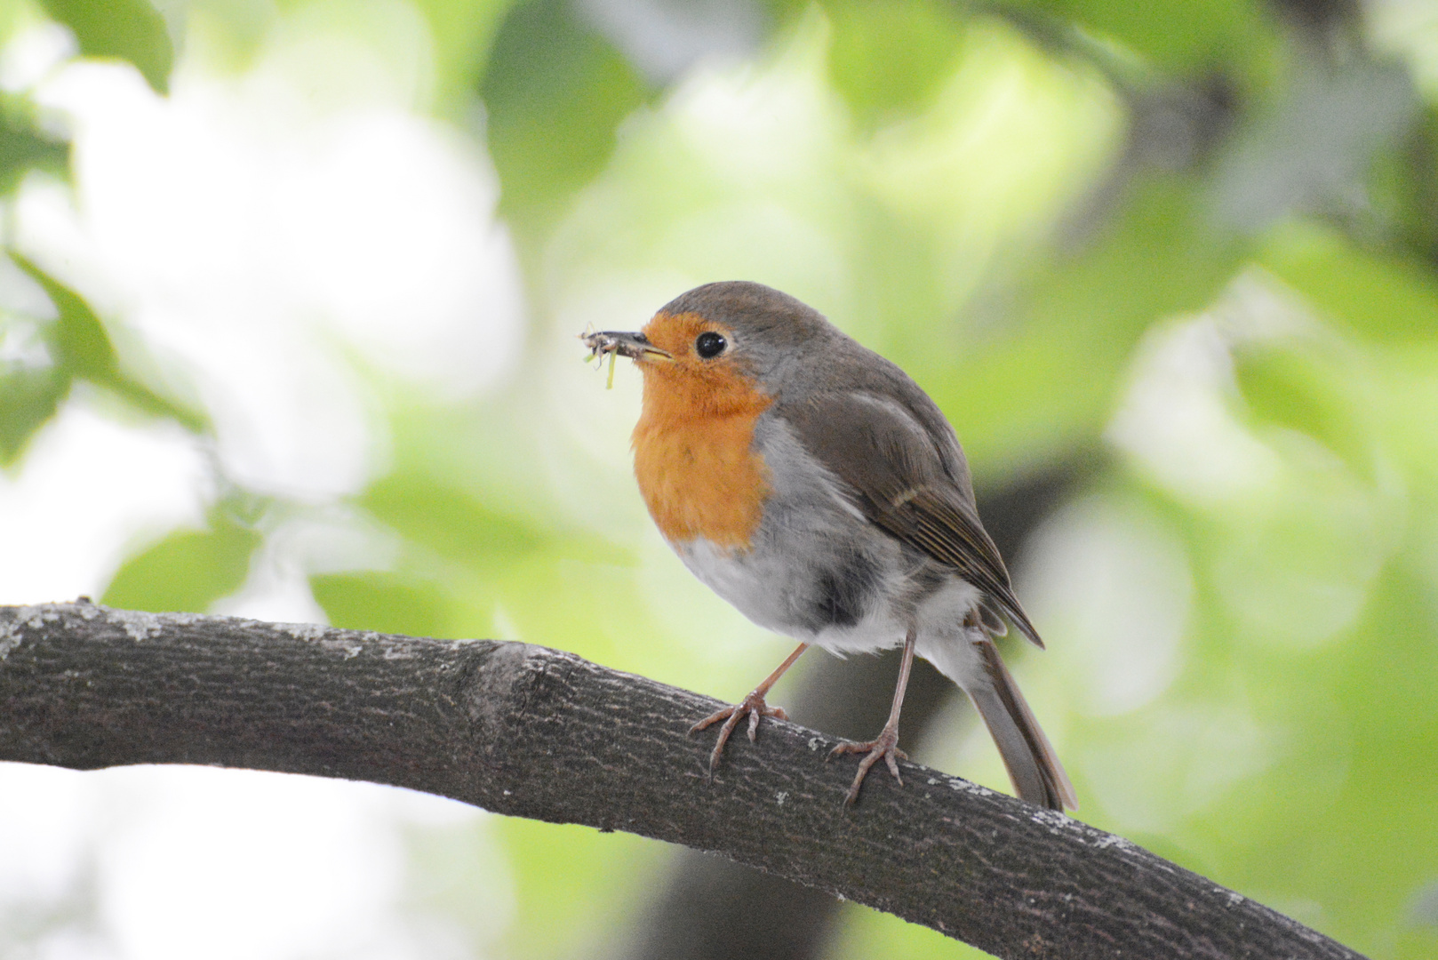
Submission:
[[[24,469],[0,474],[0,603],[98,599],[138,541],[203,525],[207,476],[180,427],[68,403],[32,440]]]

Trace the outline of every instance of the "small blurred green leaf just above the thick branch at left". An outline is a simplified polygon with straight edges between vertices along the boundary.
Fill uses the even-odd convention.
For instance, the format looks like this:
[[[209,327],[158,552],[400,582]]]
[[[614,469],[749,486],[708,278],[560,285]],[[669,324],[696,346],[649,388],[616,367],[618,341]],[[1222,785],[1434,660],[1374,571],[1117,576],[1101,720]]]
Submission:
[[[181,530],[131,557],[105,589],[104,603],[154,613],[204,613],[239,590],[260,535],[216,515],[210,530]]]

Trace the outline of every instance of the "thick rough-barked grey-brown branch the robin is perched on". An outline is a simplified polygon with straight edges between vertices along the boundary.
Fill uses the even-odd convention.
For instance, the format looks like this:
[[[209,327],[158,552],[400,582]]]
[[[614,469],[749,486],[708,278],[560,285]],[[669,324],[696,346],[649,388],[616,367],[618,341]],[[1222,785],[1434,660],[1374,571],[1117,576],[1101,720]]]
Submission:
[[[905,764],[854,809],[834,741],[772,723],[706,780],[715,701],[523,643],[89,603],[0,607],[0,760],[371,780],[713,851],[999,957],[1352,959],[1063,815]]]

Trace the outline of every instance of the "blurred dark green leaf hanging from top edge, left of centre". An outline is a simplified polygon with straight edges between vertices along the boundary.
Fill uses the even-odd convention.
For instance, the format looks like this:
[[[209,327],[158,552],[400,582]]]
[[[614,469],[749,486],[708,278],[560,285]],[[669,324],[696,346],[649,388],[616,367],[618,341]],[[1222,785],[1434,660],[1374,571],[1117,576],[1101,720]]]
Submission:
[[[544,230],[608,163],[620,121],[649,89],[571,4],[532,0],[499,29],[480,95],[500,212]]]

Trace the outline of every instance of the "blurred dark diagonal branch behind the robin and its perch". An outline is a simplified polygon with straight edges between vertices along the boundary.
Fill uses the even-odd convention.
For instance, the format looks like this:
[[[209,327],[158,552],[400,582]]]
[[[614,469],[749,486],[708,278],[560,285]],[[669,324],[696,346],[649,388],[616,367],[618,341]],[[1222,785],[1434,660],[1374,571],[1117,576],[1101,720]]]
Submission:
[[[1024,541],[1087,476],[1087,458],[981,494],[979,515],[1012,566]],[[1007,653],[1017,652],[1009,645]],[[889,717],[899,675],[899,651],[838,659],[811,653],[801,661],[794,692],[782,702],[805,727],[867,740]],[[735,697],[743,691],[735,691]],[[905,695],[903,744],[929,734],[958,688],[926,661],[915,661]],[[965,701],[966,704],[968,701]],[[972,721],[972,711],[966,714]],[[812,887],[693,851],[670,865],[664,888],[649,904],[626,951],[633,960],[805,960],[823,954],[838,921],[840,901]]]

